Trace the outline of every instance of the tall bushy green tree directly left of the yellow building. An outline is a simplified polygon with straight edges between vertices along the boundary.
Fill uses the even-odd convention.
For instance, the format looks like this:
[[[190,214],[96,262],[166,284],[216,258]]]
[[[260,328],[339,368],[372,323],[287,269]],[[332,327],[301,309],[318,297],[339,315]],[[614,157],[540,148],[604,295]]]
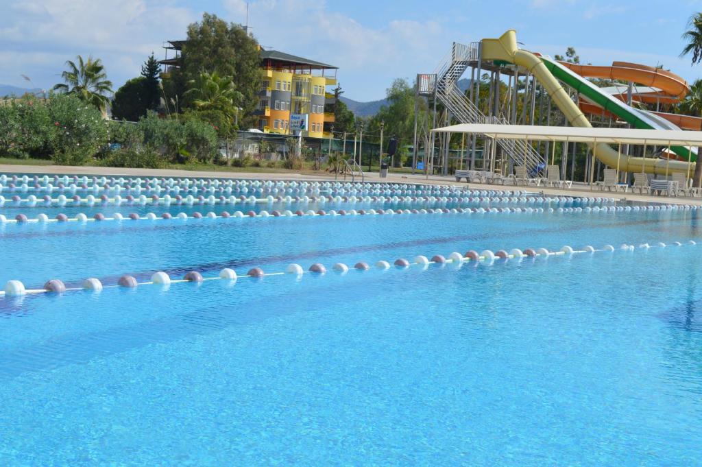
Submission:
[[[258,41],[246,33],[241,25],[227,23],[216,15],[204,13],[200,22],[187,28],[187,39],[180,56],[181,67],[173,77],[173,88],[179,84],[197,81],[202,72],[220,77],[232,77],[234,89],[241,93],[239,116],[245,125],[252,125],[253,110],[258,103],[260,87],[260,52]],[[179,76],[178,76],[179,75]]]

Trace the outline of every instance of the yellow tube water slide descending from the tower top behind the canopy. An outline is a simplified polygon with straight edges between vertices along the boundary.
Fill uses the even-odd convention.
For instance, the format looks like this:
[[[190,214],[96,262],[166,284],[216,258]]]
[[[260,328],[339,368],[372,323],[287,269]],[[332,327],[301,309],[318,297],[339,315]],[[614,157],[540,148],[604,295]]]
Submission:
[[[502,60],[513,63],[519,67],[526,68],[538,79],[541,86],[551,96],[555,105],[563,112],[573,126],[590,128],[590,121],[585,117],[578,105],[569,98],[568,93],[553,77],[548,68],[531,52],[517,48],[517,34],[514,29],[510,29],[499,39],[482,40],[483,60]],[[644,159],[643,157],[631,157],[627,154],[620,154],[609,145],[597,143],[596,147],[588,143],[597,159],[600,159],[607,166],[620,171],[646,172],[665,175],[671,172],[693,173],[694,163],[681,161],[667,161],[663,159]]]

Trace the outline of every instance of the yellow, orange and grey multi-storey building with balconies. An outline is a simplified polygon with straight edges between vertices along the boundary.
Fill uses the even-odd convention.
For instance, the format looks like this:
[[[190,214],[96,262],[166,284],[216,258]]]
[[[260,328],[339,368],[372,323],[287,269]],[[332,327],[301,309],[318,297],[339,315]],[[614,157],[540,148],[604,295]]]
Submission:
[[[261,87],[256,109],[258,129],[291,134],[291,114],[307,116],[303,136],[323,138],[334,121],[337,67],[279,51],[261,51]],[[333,76],[331,75],[333,72]]]

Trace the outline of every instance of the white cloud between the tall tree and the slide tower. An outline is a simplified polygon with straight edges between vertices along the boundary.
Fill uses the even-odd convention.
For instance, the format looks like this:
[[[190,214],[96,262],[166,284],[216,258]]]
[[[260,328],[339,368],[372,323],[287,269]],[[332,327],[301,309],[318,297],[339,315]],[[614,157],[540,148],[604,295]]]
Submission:
[[[245,22],[246,1],[224,5],[232,21]],[[319,0],[251,1],[249,25],[263,46],[340,67],[340,82],[357,84],[350,98],[380,98],[393,78],[431,72],[451,40],[461,39],[444,20],[389,18],[369,27]]]

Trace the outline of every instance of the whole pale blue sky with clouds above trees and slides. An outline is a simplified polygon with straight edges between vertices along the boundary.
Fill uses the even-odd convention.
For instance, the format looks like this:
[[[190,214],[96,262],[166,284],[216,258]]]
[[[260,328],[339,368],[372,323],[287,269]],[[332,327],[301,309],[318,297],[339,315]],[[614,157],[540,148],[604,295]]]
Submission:
[[[66,60],[93,55],[116,91],[204,11],[246,22],[244,0],[0,0],[0,11],[0,84],[27,88],[51,88]],[[530,51],[574,46],[584,63],[663,65],[694,81],[702,65],[678,54],[695,11],[702,0],[251,0],[249,26],[266,48],[338,66],[345,96],[367,101],[397,77],[433,72],[453,41],[507,29]]]

